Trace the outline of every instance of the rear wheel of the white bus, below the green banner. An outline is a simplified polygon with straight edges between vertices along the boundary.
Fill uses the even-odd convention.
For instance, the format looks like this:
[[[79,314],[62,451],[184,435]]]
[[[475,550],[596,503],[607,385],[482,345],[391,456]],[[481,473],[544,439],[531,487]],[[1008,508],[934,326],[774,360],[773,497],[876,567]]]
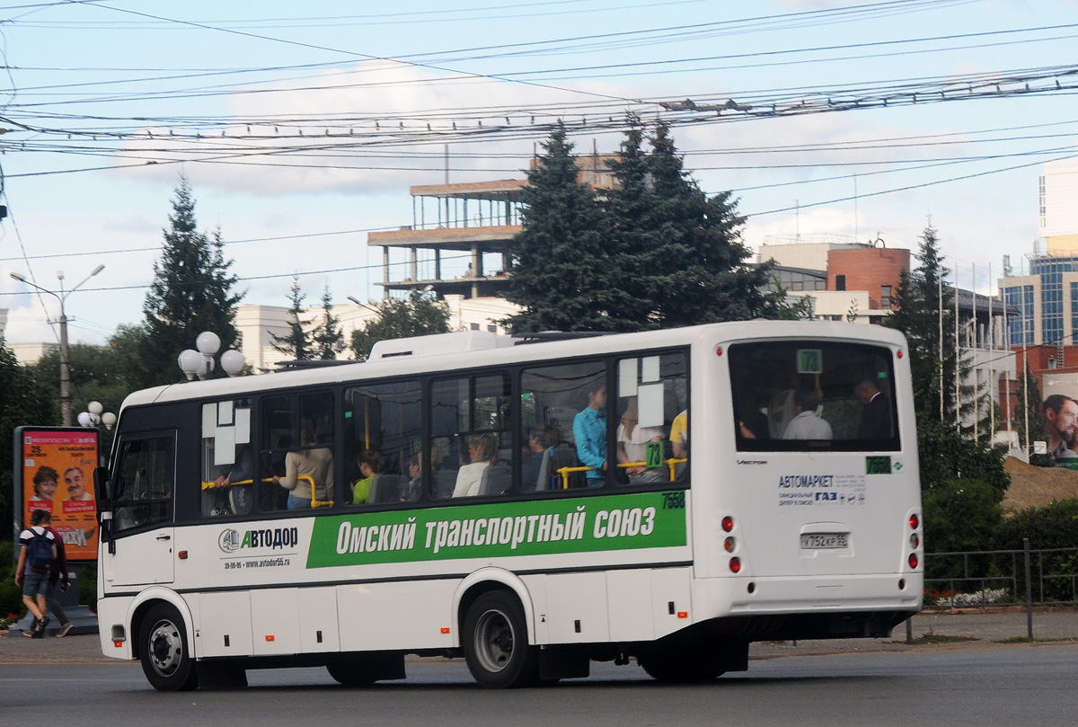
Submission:
[[[461,646],[468,671],[482,687],[524,687],[539,680],[539,648],[528,643],[520,602],[506,591],[475,599],[465,616]]]

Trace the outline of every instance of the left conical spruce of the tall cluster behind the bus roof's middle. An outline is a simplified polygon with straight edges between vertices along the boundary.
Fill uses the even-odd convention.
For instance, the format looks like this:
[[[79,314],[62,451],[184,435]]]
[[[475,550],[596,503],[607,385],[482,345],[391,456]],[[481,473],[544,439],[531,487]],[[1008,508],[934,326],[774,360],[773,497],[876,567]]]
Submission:
[[[515,237],[506,293],[523,311],[507,326],[513,332],[638,330],[618,266],[624,261],[611,250],[609,218],[595,193],[578,182],[565,126],[558,124],[542,146],[522,192],[524,229]]]

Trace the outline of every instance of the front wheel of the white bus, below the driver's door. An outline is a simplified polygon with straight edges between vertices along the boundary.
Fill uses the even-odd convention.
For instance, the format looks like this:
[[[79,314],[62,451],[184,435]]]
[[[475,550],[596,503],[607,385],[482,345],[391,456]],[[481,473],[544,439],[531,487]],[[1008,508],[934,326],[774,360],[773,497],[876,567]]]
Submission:
[[[158,691],[188,691],[198,686],[183,618],[167,603],[150,608],[139,630],[139,655],[147,681]]]

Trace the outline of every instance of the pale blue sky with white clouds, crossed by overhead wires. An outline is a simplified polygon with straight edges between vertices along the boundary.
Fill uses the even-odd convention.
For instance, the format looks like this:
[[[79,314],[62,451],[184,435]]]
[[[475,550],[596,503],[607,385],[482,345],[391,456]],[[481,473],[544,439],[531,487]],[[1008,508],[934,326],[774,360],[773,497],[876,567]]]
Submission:
[[[630,112],[733,191],[754,249],[915,249],[930,222],[989,292],[1034,249],[1042,164],[1078,153],[1076,38],[1078,0],[0,0],[6,338],[57,340],[12,272],[105,265],[71,342],[139,323],[181,175],[244,303],[293,275],[307,304],[376,299],[367,233],[412,224],[410,186],[523,178],[558,121],[617,151]]]

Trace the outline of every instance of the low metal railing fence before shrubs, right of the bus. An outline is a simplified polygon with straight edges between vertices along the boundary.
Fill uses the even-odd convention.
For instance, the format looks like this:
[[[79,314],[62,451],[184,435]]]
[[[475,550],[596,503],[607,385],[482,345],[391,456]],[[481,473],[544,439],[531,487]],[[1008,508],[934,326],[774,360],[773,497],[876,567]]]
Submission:
[[[925,554],[925,607],[1078,605],[1078,548]]]

